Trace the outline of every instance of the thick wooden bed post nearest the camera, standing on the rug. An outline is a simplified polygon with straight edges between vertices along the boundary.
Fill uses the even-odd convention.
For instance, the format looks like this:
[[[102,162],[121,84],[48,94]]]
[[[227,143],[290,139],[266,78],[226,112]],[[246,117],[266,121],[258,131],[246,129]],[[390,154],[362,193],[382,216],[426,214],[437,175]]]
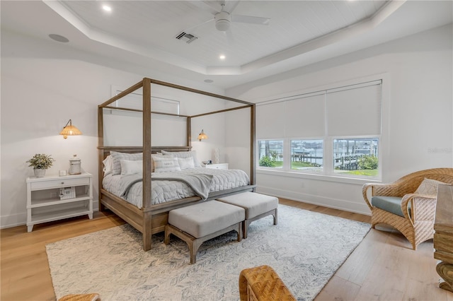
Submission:
[[[143,249],[151,249],[151,80],[143,78]]]

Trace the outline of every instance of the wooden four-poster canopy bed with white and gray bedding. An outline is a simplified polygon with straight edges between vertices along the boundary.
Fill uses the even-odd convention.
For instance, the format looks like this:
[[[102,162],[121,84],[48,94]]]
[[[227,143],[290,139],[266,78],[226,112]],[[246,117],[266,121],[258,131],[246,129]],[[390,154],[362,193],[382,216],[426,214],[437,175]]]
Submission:
[[[182,115],[182,114],[173,114],[168,112],[158,112],[151,110],[151,85],[159,85],[164,86],[165,88],[169,89],[176,89],[178,91],[184,91],[184,93],[195,93],[195,95],[204,95],[209,98],[217,98],[219,100],[224,100],[226,102],[232,102],[234,106],[227,106],[222,110],[214,110],[212,112],[203,112],[197,113],[194,115]],[[142,95],[142,108],[130,108],[130,107],[122,107],[118,106],[118,101],[122,99],[126,99],[127,95],[134,93],[134,91],[140,90]],[[124,102],[122,102],[124,103]],[[142,145],[141,146],[108,146],[104,145],[105,142],[105,129],[104,129],[104,112],[105,110],[120,110],[122,112],[139,112],[142,114]],[[192,150],[192,120],[197,117],[207,116],[210,114],[223,114],[225,112],[231,112],[233,110],[248,110],[250,112],[250,153],[246,154],[250,156],[250,170],[248,170],[248,175],[246,172],[240,170],[230,170],[230,171],[222,171],[222,170],[208,170],[200,165],[197,165],[198,158],[194,159],[194,168],[190,166],[190,168],[182,170],[182,174],[190,174],[188,175],[188,179],[180,180],[174,179],[176,173],[179,171],[176,170],[168,170],[165,172],[156,172],[154,170],[154,164],[165,161],[169,162],[172,158],[189,158],[191,155],[195,153]],[[185,146],[151,146],[151,117],[152,116],[174,116],[174,117],[182,117],[186,119],[186,126],[185,126]],[[219,198],[220,196],[227,196],[231,194],[236,194],[242,191],[254,191],[255,189],[255,104],[251,102],[245,102],[243,100],[236,100],[234,98],[228,98],[223,95],[216,95],[213,93],[208,93],[202,90],[196,90],[193,88],[183,87],[181,85],[174,85],[172,83],[166,83],[163,81],[156,81],[151,78],[143,78],[142,81],[132,85],[130,88],[123,90],[122,92],[115,95],[110,100],[103,102],[101,105],[98,105],[98,189],[99,189],[99,208],[101,211],[106,209],[113,211],[117,216],[120,216],[123,220],[127,223],[132,225],[134,228],[142,232],[143,235],[143,249],[144,251],[148,251],[151,249],[151,235],[157,232],[162,232],[165,229],[165,225],[168,223],[168,211],[171,211],[175,208],[180,208],[183,206],[190,206],[195,203],[199,203],[202,201],[212,200]],[[115,158],[115,165],[118,164],[120,161],[121,164],[130,164],[121,165],[126,170],[133,170],[137,168],[137,163],[133,163],[129,160],[130,158],[137,159],[136,161],[139,162],[142,168],[142,176],[139,177],[132,175],[128,175],[127,172],[125,175],[120,175],[120,177],[130,177],[130,182],[134,182],[130,187],[122,187],[121,189],[118,188],[118,184],[116,183],[119,181],[118,177],[118,170],[116,170],[115,175],[112,175],[113,172],[110,170],[105,169],[106,164],[110,163],[110,160],[113,161],[113,154],[121,154],[119,158],[123,158],[125,160],[119,160]],[[129,155],[130,158],[129,158]],[[167,158],[161,159],[159,156],[168,156]],[[139,160],[141,157],[142,160]],[[157,159],[156,159],[157,158]],[[174,160],[174,159],[173,159]],[[156,161],[156,162],[155,162]],[[107,163],[106,163],[107,162]],[[181,162],[181,161],[179,161]],[[161,164],[161,163],[159,163]],[[185,163],[184,163],[185,164]],[[130,167],[132,166],[132,167]],[[157,166],[157,165],[156,165]],[[159,165],[159,167],[161,167]],[[113,167],[112,167],[113,168]],[[121,173],[121,172],[120,172]],[[123,172],[124,173],[124,172]],[[237,183],[236,184],[219,184],[219,179],[217,178],[229,178],[229,174],[236,174]],[[228,175],[227,175],[228,174]],[[246,175],[244,178],[243,175]],[[200,175],[200,176],[197,176]],[[171,179],[167,179],[171,178]],[[190,187],[191,182],[201,181],[200,177],[212,177],[212,186],[209,187],[209,191],[206,189],[201,193],[198,191],[200,189],[192,189],[187,188]],[[195,179],[196,178],[196,179]],[[234,178],[235,182],[236,178]],[[189,180],[190,179],[190,180]],[[232,179],[232,178],[229,178]],[[203,179],[204,180],[204,179]],[[156,189],[153,191],[153,187],[161,186],[161,183],[168,181],[173,182],[172,185],[175,185],[175,182],[178,182],[176,185],[182,185],[184,187],[182,190],[184,191],[183,194],[162,194],[163,196],[156,192]],[[205,186],[209,186],[206,184]],[[129,183],[127,183],[129,184]],[[125,185],[125,184],[122,184]],[[186,185],[186,187],[185,187]],[[165,186],[165,185],[164,185]],[[159,188],[161,189],[161,188]],[[193,191],[190,192],[190,189]],[[125,193],[127,190],[127,193]],[[168,198],[167,196],[170,195]],[[132,200],[133,199],[133,200]]]

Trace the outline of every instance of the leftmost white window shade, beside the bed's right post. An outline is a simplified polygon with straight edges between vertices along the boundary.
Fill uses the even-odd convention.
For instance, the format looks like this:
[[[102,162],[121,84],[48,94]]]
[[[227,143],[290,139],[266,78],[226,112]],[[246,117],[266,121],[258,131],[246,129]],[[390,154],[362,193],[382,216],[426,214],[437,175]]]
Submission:
[[[256,107],[256,138],[282,138],[285,134],[285,103],[274,102]]]

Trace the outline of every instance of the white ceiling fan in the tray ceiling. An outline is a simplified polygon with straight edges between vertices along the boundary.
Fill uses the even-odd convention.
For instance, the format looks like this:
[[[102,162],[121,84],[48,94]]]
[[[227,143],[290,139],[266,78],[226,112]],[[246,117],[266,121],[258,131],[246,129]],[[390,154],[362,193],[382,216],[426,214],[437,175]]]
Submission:
[[[236,15],[232,12],[234,8],[239,4],[240,1],[228,1],[228,4],[225,0],[218,1],[220,4],[220,10],[218,8],[214,8],[212,5],[217,6],[217,4],[207,3],[205,1],[192,1],[191,3],[195,6],[202,8],[205,11],[209,11],[214,15],[214,18],[207,20],[201,24],[194,26],[196,28],[200,25],[205,23],[211,22],[212,20],[215,21],[215,28],[219,31],[227,31],[230,28],[231,22],[239,22],[239,23],[249,23],[249,24],[258,24],[258,25],[268,25],[270,18],[263,18],[263,17],[254,17],[254,16],[242,16]],[[193,29],[190,28],[190,29]]]

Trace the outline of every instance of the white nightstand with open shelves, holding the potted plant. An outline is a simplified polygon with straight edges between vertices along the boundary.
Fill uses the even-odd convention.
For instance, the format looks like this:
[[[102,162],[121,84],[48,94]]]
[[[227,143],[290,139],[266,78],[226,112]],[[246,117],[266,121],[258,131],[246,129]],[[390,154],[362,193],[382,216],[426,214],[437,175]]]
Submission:
[[[60,189],[74,187],[74,195],[60,196]],[[67,189],[69,192],[70,189]],[[27,227],[52,220],[84,216],[93,218],[93,176],[88,172],[64,177],[27,178]]]

